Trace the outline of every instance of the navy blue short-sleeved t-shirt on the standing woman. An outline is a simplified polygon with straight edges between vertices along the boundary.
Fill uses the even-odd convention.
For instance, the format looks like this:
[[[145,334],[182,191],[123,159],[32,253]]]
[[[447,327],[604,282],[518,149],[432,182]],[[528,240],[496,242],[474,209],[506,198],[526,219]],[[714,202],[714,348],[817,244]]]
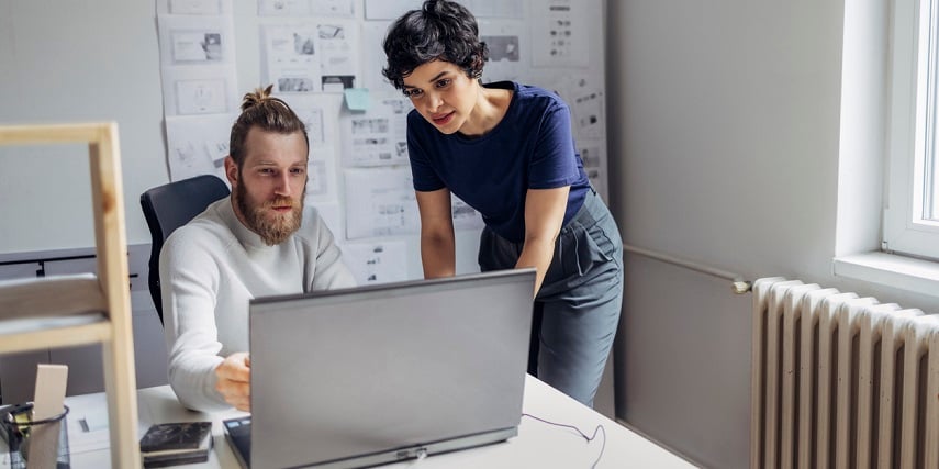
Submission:
[[[414,189],[449,189],[495,234],[521,243],[528,189],[570,186],[567,224],[583,204],[590,181],[571,133],[570,109],[557,94],[510,81],[485,87],[513,93],[505,116],[481,137],[446,135],[416,110],[407,114]]]

